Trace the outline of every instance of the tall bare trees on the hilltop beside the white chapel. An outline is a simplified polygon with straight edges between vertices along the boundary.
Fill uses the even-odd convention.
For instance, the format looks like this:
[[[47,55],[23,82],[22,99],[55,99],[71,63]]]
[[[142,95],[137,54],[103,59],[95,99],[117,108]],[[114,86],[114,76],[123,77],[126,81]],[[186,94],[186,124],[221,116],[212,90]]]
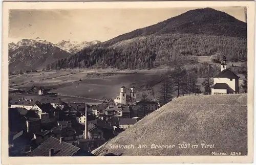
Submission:
[[[245,79],[240,88],[247,93],[247,66],[242,66],[243,74]],[[211,93],[211,86],[214,85],[213,76],[215,75],[215,70],[212,65],[208,64],[208,69],[205,72],[204,81],[201,83],[204,90],[201,91],[198,84],[198,75],[196,74],[196,69],[187,69],[179,64],[176,65],[175,70],[170,70],[166,75],[162,77],[162,82],[160,84],[160,89],[158,93],[158,101],[160,105],[165,105],[166,103],[172,101],[174,96],[181,96],[188,93]]]

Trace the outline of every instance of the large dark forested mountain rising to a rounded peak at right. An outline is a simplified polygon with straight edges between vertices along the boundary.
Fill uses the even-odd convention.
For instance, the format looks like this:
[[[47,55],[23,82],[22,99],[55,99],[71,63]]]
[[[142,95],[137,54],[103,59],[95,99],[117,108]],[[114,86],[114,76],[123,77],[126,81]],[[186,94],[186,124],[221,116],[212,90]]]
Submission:
[[[82,46],[76,46],[81,44],[70,41],[53,45],[68,55],[54,58],[50,67],[151,69],[165,64],[196,64],[198,56],[217,54],[225,55],[229,61],[246,61],[247,23],[215,9],[195,9],[108,41],[93,43],[96,44],[87,42],[81,51],[78,50]]]

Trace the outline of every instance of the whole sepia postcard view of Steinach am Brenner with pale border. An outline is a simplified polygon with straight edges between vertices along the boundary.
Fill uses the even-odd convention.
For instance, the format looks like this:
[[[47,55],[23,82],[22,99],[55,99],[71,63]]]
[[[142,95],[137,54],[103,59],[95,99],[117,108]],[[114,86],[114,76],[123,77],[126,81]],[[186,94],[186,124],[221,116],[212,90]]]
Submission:
[[[7,156],[252,158],[251,8],[195,3],[8,9]]]

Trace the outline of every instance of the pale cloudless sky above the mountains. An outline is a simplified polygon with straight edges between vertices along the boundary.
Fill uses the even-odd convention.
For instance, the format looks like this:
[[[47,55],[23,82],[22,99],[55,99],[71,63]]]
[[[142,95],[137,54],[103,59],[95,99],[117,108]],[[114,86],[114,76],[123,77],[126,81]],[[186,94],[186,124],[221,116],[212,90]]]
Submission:
[[[196,8],[65,9],[9,12],[9,42],[37,37],[52,43],[62,40],[101,42],[154,25]],[[243,7],[214,8],[245,22]]]

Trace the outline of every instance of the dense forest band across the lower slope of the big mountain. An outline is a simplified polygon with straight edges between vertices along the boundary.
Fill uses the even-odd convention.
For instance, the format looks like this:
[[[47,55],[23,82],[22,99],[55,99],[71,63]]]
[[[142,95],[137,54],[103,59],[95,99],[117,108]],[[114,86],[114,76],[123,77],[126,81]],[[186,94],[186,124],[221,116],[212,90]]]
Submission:
[[[96,44],[47,65],[47,69],[105,68],[151,69],[176,59],[197,62],[197,56],[225,55],[229,61],[247,60],[246,39],[192,34],[136,37],[111,46]]]

